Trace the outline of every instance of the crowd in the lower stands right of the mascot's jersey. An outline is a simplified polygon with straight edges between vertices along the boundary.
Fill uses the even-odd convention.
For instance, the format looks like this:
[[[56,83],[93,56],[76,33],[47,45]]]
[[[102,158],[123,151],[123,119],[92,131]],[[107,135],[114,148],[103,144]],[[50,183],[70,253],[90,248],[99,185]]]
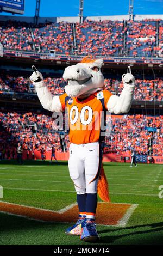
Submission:
[[[163,127],[161,117],[148,117],[145,115],[123,115],[121,118],[107,120],[111,127],[110,135],[105,139],[108,153],[127,153],[132,150],[136,154],[152,154],[162,156]],[[149,132],[146,128],[156,128],[156,132]]]

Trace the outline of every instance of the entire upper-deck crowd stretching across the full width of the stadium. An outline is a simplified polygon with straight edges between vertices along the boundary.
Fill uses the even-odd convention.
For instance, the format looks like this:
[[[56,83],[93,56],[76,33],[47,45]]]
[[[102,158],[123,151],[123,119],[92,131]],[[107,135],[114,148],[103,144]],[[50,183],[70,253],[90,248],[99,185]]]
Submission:
[[[7,50],[94,56],[158,57],[163,21],[157,20],[34,23],[1,21],[0,42]],[[125,44],[124,44],[125,42]],[[125,46],[126,45],[126,46]]]

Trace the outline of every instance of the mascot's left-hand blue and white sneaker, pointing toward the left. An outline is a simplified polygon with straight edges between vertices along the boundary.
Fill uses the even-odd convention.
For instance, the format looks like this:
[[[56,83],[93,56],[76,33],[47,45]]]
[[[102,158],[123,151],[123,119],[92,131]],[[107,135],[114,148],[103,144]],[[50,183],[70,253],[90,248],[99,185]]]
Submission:
[[[66,235],[81,235],[82,234],[82,228],[85,225],[86,218],[79,218],[72,227],[69,227],[66,229],[65,234]]]

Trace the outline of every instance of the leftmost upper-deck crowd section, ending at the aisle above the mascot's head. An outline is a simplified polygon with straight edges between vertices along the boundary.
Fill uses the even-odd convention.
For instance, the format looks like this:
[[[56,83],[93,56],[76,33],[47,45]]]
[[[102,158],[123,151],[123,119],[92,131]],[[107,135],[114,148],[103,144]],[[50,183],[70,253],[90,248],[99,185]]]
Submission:
[[[0,22],[0,42],[5,49],[69,54],[72,48],[72,25],[66,22],[33,23]]]

